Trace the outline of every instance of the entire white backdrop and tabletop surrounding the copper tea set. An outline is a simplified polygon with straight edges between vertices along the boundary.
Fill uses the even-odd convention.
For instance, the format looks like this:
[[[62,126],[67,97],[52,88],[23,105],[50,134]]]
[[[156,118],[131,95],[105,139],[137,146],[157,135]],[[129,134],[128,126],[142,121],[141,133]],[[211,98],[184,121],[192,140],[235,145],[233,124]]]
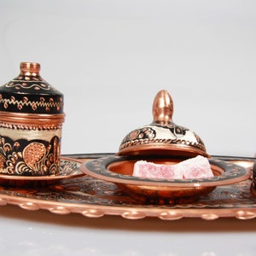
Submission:
[[[116,152],[159,90],[208,154],[256,152],[254,0],[0,0],[0,84],[21,61],[65,96],[62,154]],[[255,219],[57,216],[0,207],[1,255],[255,255]]]

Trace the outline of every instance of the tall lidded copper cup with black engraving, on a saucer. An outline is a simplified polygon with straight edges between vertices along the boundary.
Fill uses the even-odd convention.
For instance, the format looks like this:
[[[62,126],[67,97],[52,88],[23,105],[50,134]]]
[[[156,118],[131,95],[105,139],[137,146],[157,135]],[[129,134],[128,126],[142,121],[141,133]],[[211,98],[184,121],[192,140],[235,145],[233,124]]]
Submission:
[[[63,95],[39,74],[40,65],[20,63],[20,74],[0,87],[0,173],[59,174]]]

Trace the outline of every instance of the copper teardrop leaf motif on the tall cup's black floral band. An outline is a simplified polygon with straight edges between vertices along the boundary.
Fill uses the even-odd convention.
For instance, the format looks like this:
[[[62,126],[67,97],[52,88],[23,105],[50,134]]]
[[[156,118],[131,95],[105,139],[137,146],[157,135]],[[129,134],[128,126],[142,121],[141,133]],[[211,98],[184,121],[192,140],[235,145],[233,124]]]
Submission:
[[[43,143],[30,143],[23,150],[23,159],[27,166],[34,168],[34,165],[43,158],[46,148]]]

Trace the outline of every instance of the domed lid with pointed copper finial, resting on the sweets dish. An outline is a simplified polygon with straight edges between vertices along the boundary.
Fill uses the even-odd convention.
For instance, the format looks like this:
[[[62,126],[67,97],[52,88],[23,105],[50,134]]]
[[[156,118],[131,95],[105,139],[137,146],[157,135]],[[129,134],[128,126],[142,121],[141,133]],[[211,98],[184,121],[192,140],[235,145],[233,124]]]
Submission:
[[[160,90],[154,98],[153,117],[150,125],[145,125],[125,136],[117,155],[174,155],[194,157],[198,154],[209,156],[201,138],[172,121],[172,96]]]

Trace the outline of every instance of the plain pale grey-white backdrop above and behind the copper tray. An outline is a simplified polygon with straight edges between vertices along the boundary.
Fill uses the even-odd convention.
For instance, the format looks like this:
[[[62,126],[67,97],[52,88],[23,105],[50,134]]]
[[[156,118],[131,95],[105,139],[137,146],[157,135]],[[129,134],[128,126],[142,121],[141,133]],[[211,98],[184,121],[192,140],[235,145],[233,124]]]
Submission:
[[[116,152],[159,90],[208,154],[256,152],[256,2],[0,0],[0,84],[21,61],[65,96],[62,154]]]

